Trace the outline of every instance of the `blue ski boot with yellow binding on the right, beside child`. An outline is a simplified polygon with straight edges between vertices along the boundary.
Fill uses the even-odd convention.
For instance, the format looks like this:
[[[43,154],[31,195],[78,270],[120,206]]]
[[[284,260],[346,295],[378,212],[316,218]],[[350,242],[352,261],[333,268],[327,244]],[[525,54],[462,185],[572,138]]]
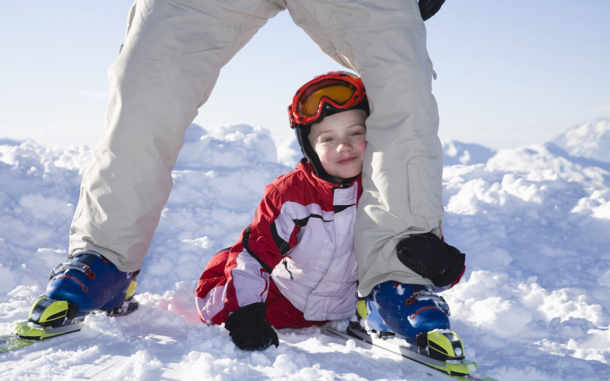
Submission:
[[[464,361],[464,344],[450,330],[449,305],[434,286],[384,282],[360,298],[356,307],[360,326],[369,334],[404,339],[409,350],[439,360],[426,365],[456,376],[469,374],[472,361]],[[352,324],[350,329],[357,327]]]

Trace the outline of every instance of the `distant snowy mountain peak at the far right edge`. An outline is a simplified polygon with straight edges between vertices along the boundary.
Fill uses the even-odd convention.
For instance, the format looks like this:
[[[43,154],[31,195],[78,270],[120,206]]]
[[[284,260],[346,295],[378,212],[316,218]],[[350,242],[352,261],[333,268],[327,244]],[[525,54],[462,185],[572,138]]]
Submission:
[[[610,119],[587,121],[559,135],[552,143],[572,156],[610,163]]]

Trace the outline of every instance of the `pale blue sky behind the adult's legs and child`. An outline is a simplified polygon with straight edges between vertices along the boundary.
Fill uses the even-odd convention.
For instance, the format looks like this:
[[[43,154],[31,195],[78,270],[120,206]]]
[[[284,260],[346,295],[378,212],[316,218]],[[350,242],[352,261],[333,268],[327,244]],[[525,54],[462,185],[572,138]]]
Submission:
[[[0,13],[0,138],[94,146],[131,1],[9,1]],[[426,21],[443,140],[511,148],[610,116],[610,2],[448,0]],[[286,106],[340,70],[287,12],[221,70],[195,123],[292,137]],[[254,99],[253,92],[260,91]]]

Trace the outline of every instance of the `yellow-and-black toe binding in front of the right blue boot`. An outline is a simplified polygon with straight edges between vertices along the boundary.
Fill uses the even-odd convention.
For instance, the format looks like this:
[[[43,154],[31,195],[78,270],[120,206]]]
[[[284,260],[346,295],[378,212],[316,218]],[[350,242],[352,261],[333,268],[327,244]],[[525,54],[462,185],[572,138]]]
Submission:
[[[416,340],[418,353],[445,364],[436,368],[442,369],[451,376],[467,376],[471,372],[476,372],[476,363],[464,360],[464,344],[455,332],[449,330],[420,332]]]

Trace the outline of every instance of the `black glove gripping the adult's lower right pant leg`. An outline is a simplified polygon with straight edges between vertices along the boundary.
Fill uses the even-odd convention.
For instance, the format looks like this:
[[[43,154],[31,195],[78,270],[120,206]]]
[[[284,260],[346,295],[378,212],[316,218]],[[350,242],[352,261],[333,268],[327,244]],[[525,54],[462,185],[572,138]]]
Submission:
[[[414,234],[396,246],[398,260],[439,287],[459,279],[466,255],[433,233]]]

